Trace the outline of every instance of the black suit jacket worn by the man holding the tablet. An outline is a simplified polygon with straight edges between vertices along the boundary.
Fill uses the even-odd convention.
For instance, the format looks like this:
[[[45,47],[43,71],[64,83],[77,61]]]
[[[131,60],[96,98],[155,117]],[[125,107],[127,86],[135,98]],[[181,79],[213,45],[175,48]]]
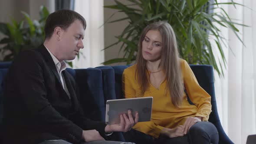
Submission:
[[[51,139],[78,143],[82,129],[96,129],[104,137],[105,123],[84,117],[74,79],[66,71],[62,74],[71,98],[43,45],[16,57],[3,85],[4,144],[38,144]]]

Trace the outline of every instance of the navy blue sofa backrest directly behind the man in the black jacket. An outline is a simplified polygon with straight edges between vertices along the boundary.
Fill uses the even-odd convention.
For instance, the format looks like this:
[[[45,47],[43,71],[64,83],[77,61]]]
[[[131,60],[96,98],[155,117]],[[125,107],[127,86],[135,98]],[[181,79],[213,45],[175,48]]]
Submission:
[[[1,62],[0,62],[1,65]],[[8,69],[0,68],[0,123],[3,118],[3,80]],[[105,99],[100,69],[67,69],[74,77],[80,93],[80,103],[87,118],[105,121]]]

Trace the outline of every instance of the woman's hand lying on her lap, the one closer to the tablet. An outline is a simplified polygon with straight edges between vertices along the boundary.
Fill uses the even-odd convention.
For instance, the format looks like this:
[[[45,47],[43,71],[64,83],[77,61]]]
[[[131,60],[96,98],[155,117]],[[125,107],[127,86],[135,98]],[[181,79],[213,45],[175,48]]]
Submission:
[[[182,137],[184,136],[184,126],[179,125],[177,128],[163,128],[162,131],[160,132],[161,135],[173,138],[173,137]]]

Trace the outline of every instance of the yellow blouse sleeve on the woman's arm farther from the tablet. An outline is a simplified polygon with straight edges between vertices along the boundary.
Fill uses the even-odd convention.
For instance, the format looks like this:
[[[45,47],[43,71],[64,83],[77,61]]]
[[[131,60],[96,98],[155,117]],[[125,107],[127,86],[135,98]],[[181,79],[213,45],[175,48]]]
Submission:
[[[211,112],[210,95],[200,87],[193,71],[185,60],[182,65],[182,71],[187,94],[190,100],[197,106],[196,116],[202,117],[203,121],[208,121]]]

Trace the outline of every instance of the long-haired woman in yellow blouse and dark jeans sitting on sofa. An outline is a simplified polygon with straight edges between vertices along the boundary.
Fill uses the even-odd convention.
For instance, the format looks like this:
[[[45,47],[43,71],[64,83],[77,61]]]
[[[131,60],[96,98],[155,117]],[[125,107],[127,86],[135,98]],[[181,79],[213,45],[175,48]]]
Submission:
[[[125,69],[125,98],[153,97],[151,121],[136,124],[135,143],[217,144],[218,132],[208,121],[210,95],[200,87],[190,66],[179,58],[174,30],[166,22],[148,25],[139,39],[135,65]],[[190,100],[194,105],[190,105]],[[136,130],[136,131],[135,131]],[[136,134],[134,134],[136,133]],[[140,139],[140,141],[138,141]],[[161,142],[160,142],[161,141]],[[147,143],[149,143],[147,141]]]

